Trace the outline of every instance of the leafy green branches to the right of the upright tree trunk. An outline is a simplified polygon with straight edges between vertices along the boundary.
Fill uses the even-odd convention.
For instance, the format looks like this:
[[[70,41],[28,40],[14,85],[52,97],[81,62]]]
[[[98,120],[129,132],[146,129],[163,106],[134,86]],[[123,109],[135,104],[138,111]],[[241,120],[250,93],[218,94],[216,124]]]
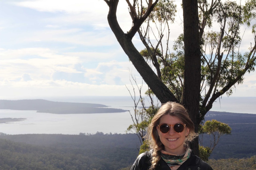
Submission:
[[[200,1],[202,4],[204,2]],[[256,16],[255,1],[247,1],[246,3],[248,4],[241,6],[234,1],[225,1],[212,5],[209,10],[201,8],[201,14],[207,13],[205,15],[208,16],[208,18],[202,17],[202,20],[215,19],[221,28],[219,32],[203,32],[202,36],[202,42],[204,42],[202,46],[202,50],[204,49],[202,58],[203,82],[206,82],[207,86],[212,86],[213,82],[216,81],[214,93],[223,94],[226,92],[228,96],[231,95],[234,86],[230,85],[243,83],[243,75],[246,72],[254,71],[255,56],[252,56],[251,53],[248,54],[248,52],[244,54],[239,52],[242,42],[241,26],[244,24],[250,26],[252,18],[255,19]],[[212,27],[211,24],[208,26]],[[253,31],[254,28],[251,28]],[[255,39],[255,35],[253,38]],[[222,51],[220,51],[220,46]],[[218,73],[218,77],[216,77],[216,73]]]

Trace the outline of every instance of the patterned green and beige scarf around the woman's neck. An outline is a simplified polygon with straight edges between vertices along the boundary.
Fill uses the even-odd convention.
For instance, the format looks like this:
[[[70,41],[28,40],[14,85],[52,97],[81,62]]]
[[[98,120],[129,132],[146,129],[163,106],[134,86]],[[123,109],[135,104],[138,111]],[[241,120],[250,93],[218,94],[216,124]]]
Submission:
[[[191,155],[191,149],[189,149],[187,145],[184,145],[184,148],[186,149],[186,151],[181,155],[174,155],[172,153],[161,150],[161,157],[169,167],[182,165],[182,163],[187,161],[187,159]]]

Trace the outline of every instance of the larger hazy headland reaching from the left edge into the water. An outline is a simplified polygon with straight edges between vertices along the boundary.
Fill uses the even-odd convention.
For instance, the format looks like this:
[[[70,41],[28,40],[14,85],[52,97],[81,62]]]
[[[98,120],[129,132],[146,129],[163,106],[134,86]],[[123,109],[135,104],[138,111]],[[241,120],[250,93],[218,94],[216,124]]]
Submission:
[[[40,113],[52,114],[93,114],[93,113],[120,113],[123,109],[107,108],[103,104],[55,102],[43,99],[33,100],[0,100],[0,109],[36,110]]]

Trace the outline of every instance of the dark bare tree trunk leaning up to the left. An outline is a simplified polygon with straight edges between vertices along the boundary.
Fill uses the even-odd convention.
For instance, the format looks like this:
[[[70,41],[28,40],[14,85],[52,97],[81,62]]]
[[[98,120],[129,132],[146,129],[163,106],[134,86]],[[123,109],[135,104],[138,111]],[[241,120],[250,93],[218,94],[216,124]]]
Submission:
[[[127,54],[129,59],[136,70],[140,73],[143,80],[147,83],[148,87],[151,88],[153,93],[157,96],[161,103],[166,103],[167,101],[176,101],[176,97],[173,93],[166,87],[166,85],[157,77],[156,73],[147,64],[143,56],[135,48],[132,43],[132,37],[128,33],[124,33],[120,28],[117,18],[116,9],[118,5],[117,0],[111,0],[108,2],[109,13],[108,13],[108,23],[116,36],[117,41],[123,48],[124,52]]]

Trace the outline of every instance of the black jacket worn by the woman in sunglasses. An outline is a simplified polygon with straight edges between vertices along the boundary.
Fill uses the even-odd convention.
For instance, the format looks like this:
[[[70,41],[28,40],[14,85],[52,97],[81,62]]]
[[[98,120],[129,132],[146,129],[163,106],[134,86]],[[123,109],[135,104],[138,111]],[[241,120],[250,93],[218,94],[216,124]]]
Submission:
[[[138,156],[132,165],[131,170],[148,170],[151,166],[151,153],[145,152]],[[170,170],[163,159],[157,165],[156,170]],[[177,170],[213,170],[208,163],[191,153],[191,156]]]

